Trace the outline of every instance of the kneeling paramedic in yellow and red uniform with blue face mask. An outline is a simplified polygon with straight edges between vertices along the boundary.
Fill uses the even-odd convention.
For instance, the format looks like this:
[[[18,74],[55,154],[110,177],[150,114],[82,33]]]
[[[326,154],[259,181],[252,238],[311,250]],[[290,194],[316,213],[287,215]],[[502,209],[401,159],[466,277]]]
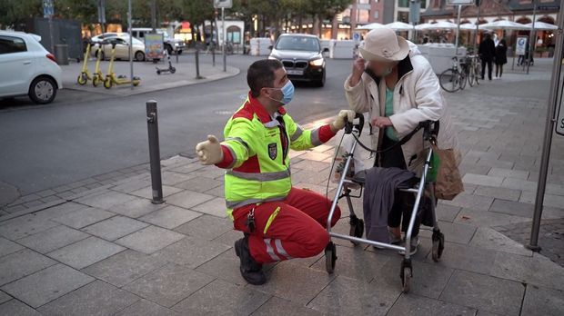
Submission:
[[[331,139],[354,112],[341,111],[335,122],[302,130],[283,105],[294,86],[277,60],[259,60],[247,71],[247,101],[227,122],[225,141],[213,135],[196,145],[201,163],[227,169],[227,213],[245,237],[235,242],[240,271],[251,284],[267,281],[262,264],[307,258],[322,252],[331,201],[321,194],[292,187],[288,152],[307,150]],[[335,225],[340,210],[335,210]]]

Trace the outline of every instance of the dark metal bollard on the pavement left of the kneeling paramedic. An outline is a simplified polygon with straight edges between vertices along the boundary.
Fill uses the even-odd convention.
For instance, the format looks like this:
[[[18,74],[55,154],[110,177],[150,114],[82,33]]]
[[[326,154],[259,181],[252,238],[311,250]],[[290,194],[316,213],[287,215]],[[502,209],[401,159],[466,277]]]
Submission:
[[[151,165],[151,186],[153,202],[160,204],[163,200],[163,181],[161,179],[161,154],[158,144],[158,117],[156,115],[156,101],[146,102],[146,127],[149,135],[149,159]]]

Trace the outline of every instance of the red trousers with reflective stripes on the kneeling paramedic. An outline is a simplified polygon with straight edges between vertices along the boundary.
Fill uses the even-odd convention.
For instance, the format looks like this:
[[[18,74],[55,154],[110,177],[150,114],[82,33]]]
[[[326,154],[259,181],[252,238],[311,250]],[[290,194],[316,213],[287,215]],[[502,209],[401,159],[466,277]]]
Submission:
[[[255,209],[255,231],[247,227],[247,214]],[[246,205],[234,210],[234,227],[249,234],[248,246],[256,262],[308,258],[327,246],[327,217],[331,201],[319,193],[292,188],[286,200]],[[331,226],[341,217],[337,208]]]

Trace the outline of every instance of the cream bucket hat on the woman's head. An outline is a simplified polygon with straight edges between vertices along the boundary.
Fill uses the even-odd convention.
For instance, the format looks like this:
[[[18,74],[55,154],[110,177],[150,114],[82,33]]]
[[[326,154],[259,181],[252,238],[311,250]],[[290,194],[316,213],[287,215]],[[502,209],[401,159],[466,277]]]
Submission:
[[[398,62],[408,56],[409,44],[391,28],[380,27],[368,32],[358,50],[368,61]]]

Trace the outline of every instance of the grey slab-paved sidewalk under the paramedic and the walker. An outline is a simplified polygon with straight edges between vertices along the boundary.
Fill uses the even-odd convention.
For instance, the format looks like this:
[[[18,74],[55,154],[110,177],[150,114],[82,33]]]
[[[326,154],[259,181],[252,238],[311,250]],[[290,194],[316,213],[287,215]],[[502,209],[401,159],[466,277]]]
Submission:
[[[549,62],[536,64],[534,76],[504,74],[446,94],[464,152],[466,192],[438,205],[447,240],[440,262],[430,258],[430,232],[421,232],[408,294],[401,293],[396,252],[341,240],[334,240],[334,274],[325,272],[319,254],[272,265],[267,284],[247,284],[233,250],[241,233],[224,212],[223,172],[175,156],[162,161],[163,204],[149,202],[144,164],[6,208],[0,314],[562,315],[564,268],[544,249],[562,257],[563,248],[541,238],[543,252],[533,253],[519,243],[526,241],[508,237],[526,234],[532,217]],[[526,89],[529,96],[520,96]],[[333,144],[291,153],[295,185],[326,193]],[[562,137],[555,137],[549,173],[544,225],[561,233]],[[354,206],[361,213],[360,199]],[[345,203],[341,208],[346,216]],[[347,233],[347,220],[335,231]]]

